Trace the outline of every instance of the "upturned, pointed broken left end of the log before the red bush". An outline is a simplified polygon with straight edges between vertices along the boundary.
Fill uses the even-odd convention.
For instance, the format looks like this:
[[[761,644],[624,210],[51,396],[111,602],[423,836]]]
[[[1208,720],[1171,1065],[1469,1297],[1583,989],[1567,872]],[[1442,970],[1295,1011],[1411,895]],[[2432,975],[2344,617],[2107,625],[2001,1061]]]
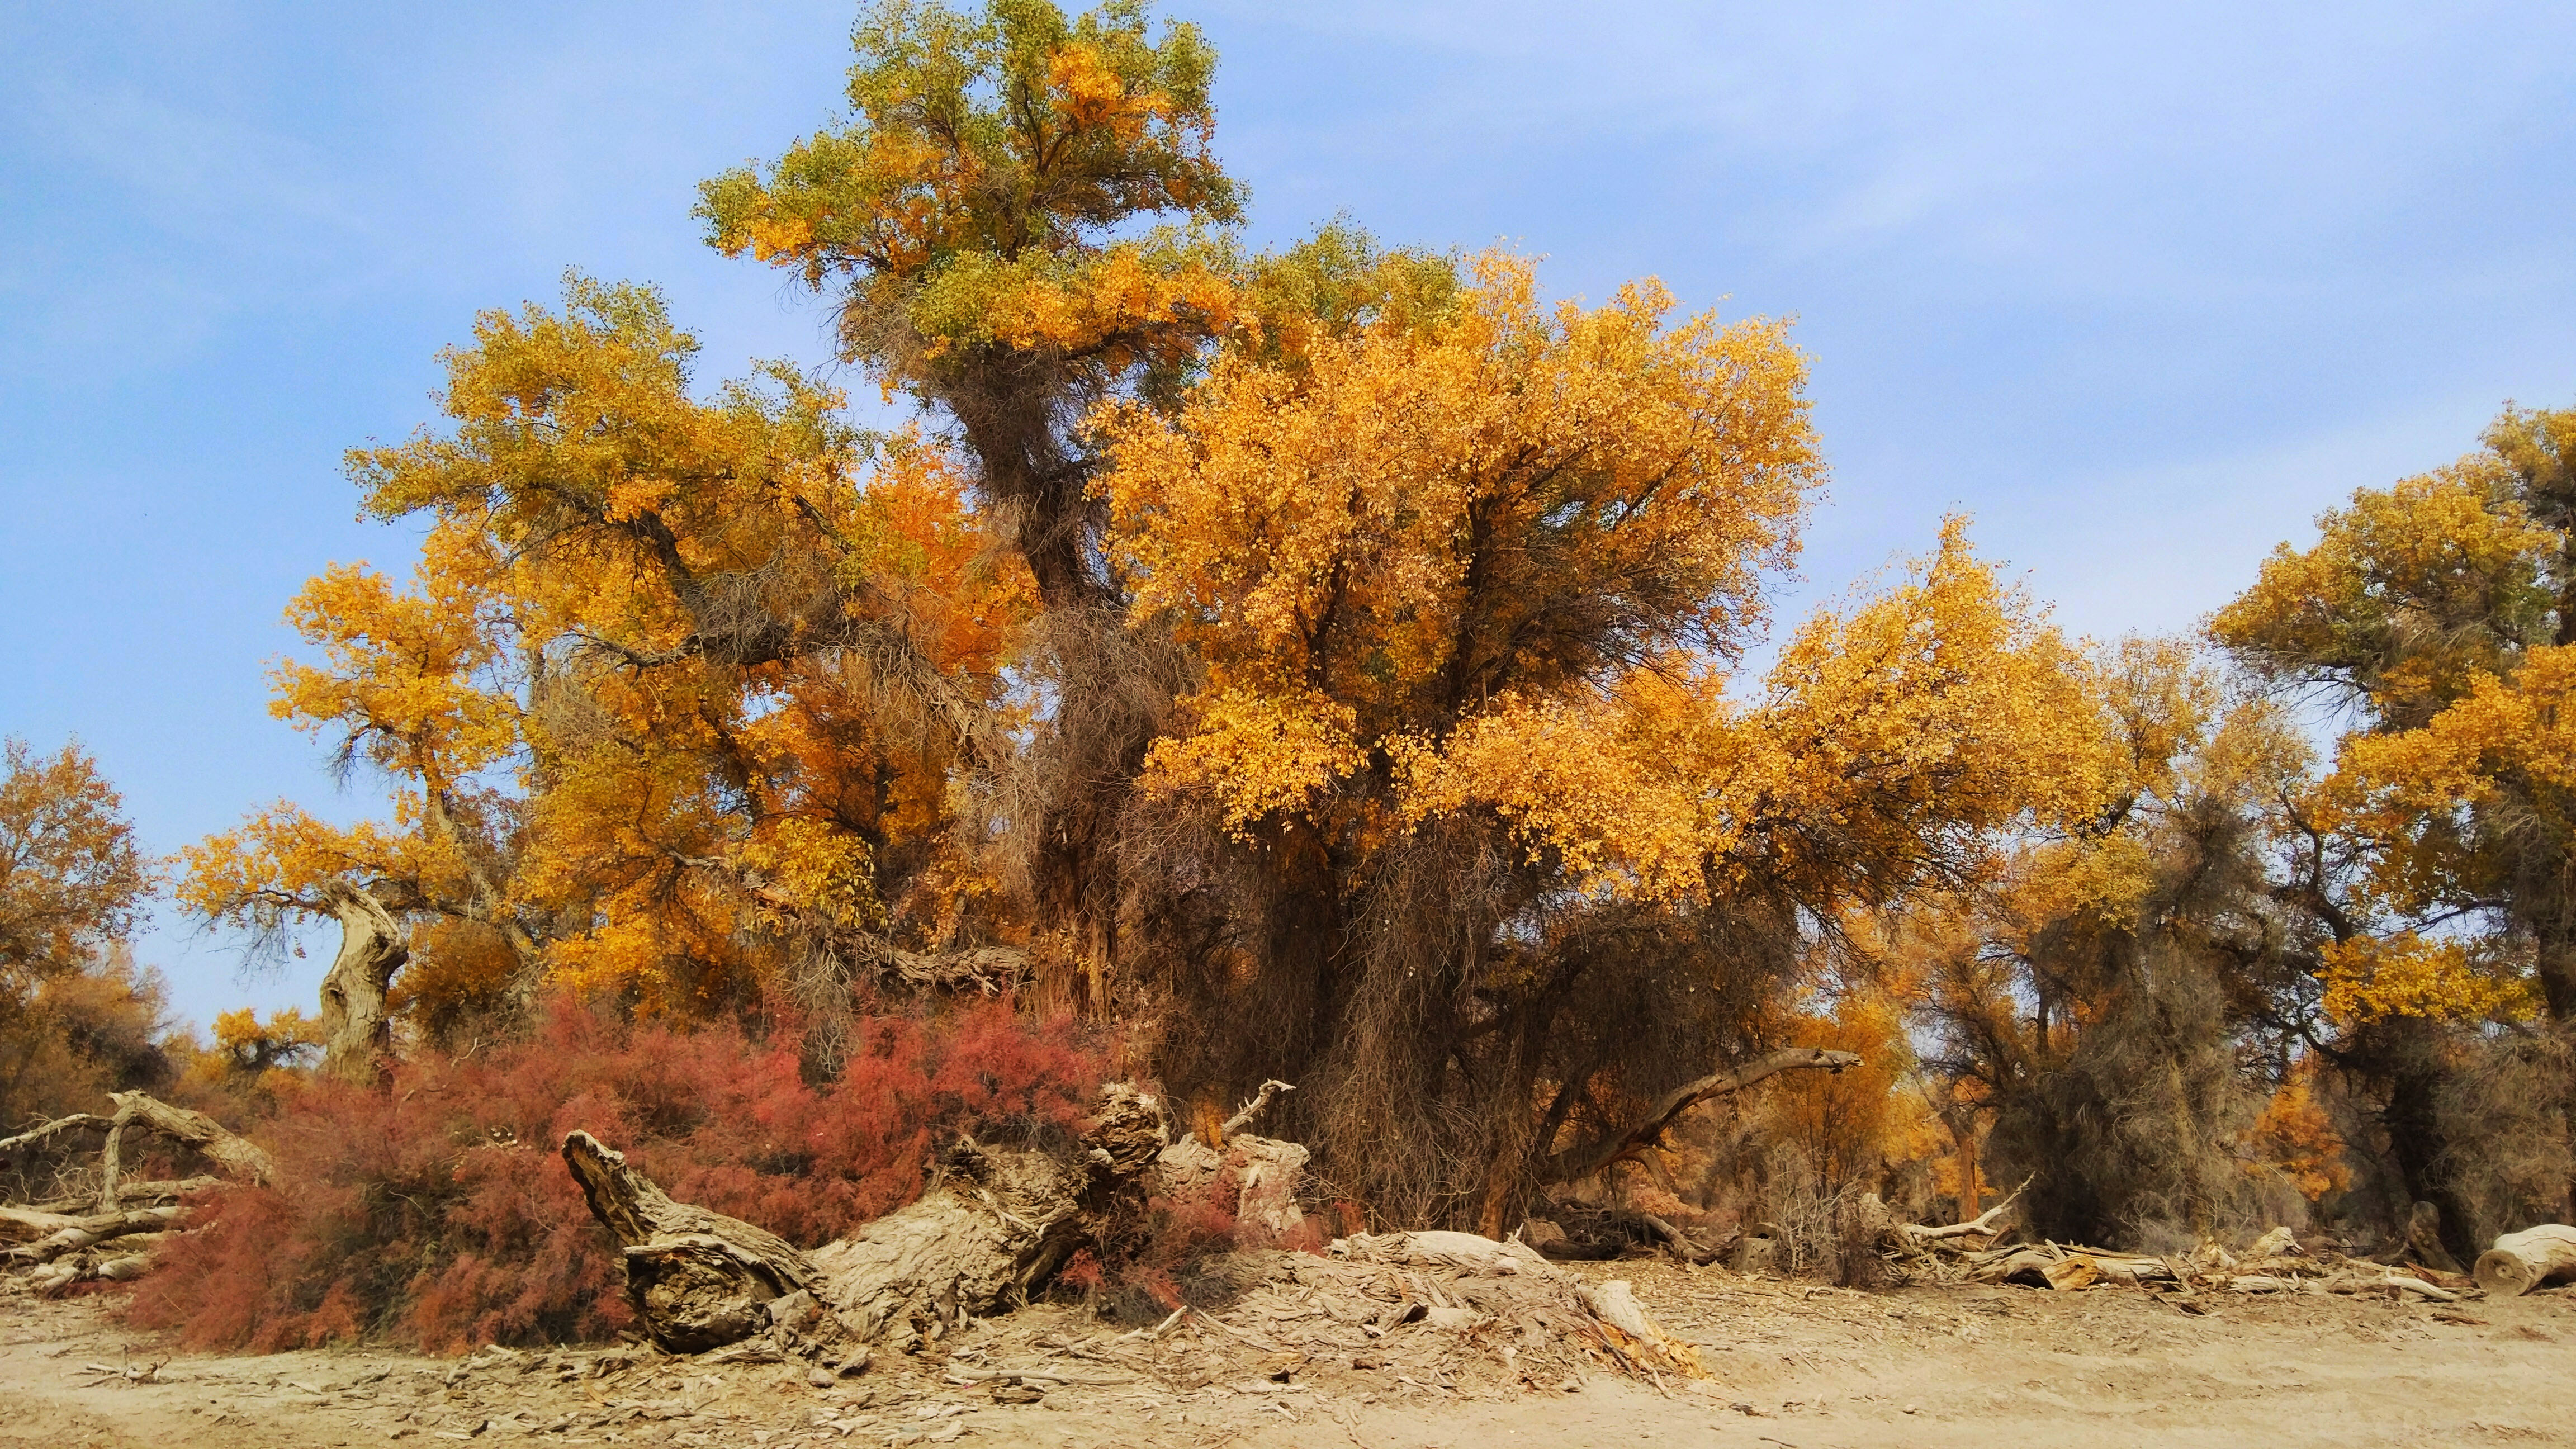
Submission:
[[[817,1284],[814,1263],[765,1227],[672,1201],[626,1155],[587,1132],[564,1137],[564,1165],[590,1214],[626,1250],[626,1299],[652,1341],[703,1354],[770,1328],[770,1305]]]

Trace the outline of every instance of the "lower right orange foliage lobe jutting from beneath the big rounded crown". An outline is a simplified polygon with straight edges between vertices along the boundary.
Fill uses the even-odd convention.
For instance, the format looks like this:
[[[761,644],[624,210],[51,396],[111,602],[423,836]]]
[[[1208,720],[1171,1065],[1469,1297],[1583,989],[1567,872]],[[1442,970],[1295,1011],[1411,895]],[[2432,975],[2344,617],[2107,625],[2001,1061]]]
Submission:
[[[1953,529],[1914,583],[1801,629],[1754,706],[1638,673],[1504,701],[1406,779],[1412,812],[1492,804],[1592,884],[1888,902],[1976,871],[1984,833],[2092,810],[2105,763],[2074,660]]]

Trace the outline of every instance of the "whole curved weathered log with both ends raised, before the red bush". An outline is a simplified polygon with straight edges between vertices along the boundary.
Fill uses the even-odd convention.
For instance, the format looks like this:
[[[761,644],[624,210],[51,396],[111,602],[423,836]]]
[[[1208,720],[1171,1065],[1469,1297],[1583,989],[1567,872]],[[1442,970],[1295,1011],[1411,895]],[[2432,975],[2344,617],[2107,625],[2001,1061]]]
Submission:
[[[564,1137],[564,1163],[626,1248],[626,1297],[654,1343],[703,1354],[788,1328],[814,1343],[848,1333],[909,1346],[1015,1307],[1133,1220],[1162,1132],[1159,1101],[1113,1085],[1072,1152],[961,1140],[920,1201],[814,1253],[672,1201],[587,1132]]]

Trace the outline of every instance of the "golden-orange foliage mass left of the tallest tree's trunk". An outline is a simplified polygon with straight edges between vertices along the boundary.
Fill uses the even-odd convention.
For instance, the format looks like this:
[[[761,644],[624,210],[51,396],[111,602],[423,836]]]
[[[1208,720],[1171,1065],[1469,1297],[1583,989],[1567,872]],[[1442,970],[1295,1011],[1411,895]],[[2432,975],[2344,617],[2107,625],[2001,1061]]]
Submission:
[[[951,792],[1028,575],[940,449],[783,369],[701,402],[693,351],[649,291],[572,278],[448,353],[451,433],[353,454],[371,511],[430,518],[422,562],[307,585],[322,660],[276,712],[384,771],[394,817],[252,817],[185,853],[191,908],[276,928],[366,887],[438,1018],[549,975],[703,1011],[796,931],[886,928],[907,877],[930,928],[989,890]]]

